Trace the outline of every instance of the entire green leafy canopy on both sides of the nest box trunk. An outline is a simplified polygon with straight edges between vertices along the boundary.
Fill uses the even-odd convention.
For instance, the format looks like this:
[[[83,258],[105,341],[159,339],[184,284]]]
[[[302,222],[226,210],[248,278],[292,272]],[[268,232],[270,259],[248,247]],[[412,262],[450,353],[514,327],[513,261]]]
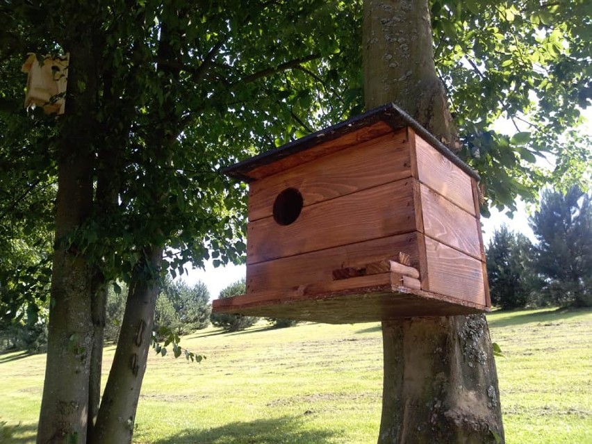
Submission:
[[[589,138],[569,129],[592,90],[586,2],[430,5],[436,65],[465,142],[461,155],[482,174],[490,204],[513,208],[516,195],[533,199],[549,179],[585,189]],[[63,53],[72,42],[67,24],[82,22],[100,30],[97,108],[85,110],[97,125],[93,176],[117,200],[108,209],[97,202],[89,222],[60,241],[100,264],[107,280],[128,279],[151,244],[169,247],[164,270],[173,277],[188,261],[242,260],[246,188],[220,169],[362,110],[361,1],[4,2],[5,240],[51,233],[54,140],[68,118],[22,110],[20,64],[27,51]],[[518,133],[494,131],[500,117]],[[535,165],[543,155],[552,156],[554,176]],[[8,230],[17,225],[10,196],[18,189],[31,190],[35,211],[24,206],[24,226]],[[49,236],[35,236],[25,242],[34,247],[42,237],[38,252],[47,259]],[[20,285],[8,284],[9,276],[22,276],[11,267],[3,269],[3,288]],[[11,294],[5,303],[22,302]],[[3,312],[14,314],[15,306]]]

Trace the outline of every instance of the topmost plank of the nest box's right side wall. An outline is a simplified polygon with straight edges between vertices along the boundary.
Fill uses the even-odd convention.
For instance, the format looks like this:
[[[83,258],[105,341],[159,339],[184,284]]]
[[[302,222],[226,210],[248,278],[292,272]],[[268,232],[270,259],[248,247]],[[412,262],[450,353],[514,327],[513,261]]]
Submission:
[[[471,177],[418,135],[415,142],[418,179],[463,210],[475,215]]]

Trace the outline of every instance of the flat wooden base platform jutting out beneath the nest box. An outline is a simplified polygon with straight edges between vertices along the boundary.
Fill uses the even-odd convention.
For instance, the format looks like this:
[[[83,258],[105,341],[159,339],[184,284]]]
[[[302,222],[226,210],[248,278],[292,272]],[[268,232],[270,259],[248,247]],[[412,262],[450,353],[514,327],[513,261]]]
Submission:
[[[351,324],[416,316],[466,315],[486,306],[404,286],[401,274],[386,272],[286,290],[266,290],[215,299],[216,313]]]

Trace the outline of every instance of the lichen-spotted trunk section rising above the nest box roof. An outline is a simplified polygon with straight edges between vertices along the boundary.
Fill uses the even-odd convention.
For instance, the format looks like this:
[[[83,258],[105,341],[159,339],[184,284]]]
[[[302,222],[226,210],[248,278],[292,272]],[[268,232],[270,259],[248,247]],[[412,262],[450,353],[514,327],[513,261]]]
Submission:
[[[364,0],[362,31],[366,108],[393,101],[458,151],[457,129],[434,65],[427,0]]]

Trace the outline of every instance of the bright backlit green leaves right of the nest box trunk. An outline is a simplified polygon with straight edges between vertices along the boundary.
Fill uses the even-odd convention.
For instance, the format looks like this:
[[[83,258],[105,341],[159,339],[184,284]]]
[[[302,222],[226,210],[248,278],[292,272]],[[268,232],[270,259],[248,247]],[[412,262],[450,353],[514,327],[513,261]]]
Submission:
[[[516,195],[532,200],[548,181],[589,186],[591,138],[571,130],[592,99],[589,2],[434,0],[431,14],[461,155],[491,204],[515,209]],[[496,131],[500,118],[516,133]]]

